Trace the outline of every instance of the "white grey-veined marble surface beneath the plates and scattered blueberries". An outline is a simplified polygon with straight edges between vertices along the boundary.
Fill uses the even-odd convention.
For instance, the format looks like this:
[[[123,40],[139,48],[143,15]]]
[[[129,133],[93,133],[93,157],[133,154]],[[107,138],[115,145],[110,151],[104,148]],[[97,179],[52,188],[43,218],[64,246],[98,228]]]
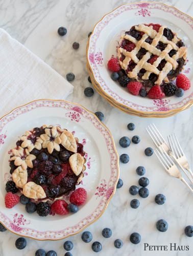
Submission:
[[[138,1],[130,1],[138,2]],[[193,15],[192,0],[160,1],[175,6],[189,15]],[[76,79],[72,82],[74,94],[68,100],[83,104],[87,109],[95,112],[102,111],[105,115],[104,123],[111,130],[120,154],[128,153],[130,162],[120,163],[120,178],[124,186],[117,189],[113,199],[109,203],[104,215],[89,226],[86,230],[92,232],[93,241],[100,241],[103,249],[99,255],[185,255],[193,254],[193,240],[184,235],[184,227],[193,225],[192,194],[177,179],[168,176],[159,164],[155,155],[151,158],[144,156],[143,151],[147,146],[153,146],[145,127],[154,122],[163,136],[176,132],[184,148],[186,156],[192,166],[192,110],[188,109],[176,116],[166,119],[142,119],[126,115],[112,108],[98,93],[86,98],[84,88],[90,86],[87,81],[85,50],[87,34],[94,24],[107,12],[126,3],[123,0],[6,0],[0,1],[0,26],[6,29],[11,36],[16,38],[32,52],[37,54],[46,63],[53,67],[62,76],[68,72],[74,72]],[[67,28],[64,37],[57,35],[60,26]],[[80,43],[80,49],[75,51],[71,45],[74,41]],[[51,95],[52,95],[51,88]],[[57,90],[57,88],[56,88]],[[135,123],[136,129],[127,130],[129,122]],[[141,142],[132,144],[129,148],[121,148],[118,140],[122,136],[132,137],[139,135]],[[139,199],[131,196],[128,189],[138,182],[139,176],[135,169],[143,165],[147,169],[146,176],[150,179],[150,196],[147,199]],[[158,193],[166,196],[166,203],[162,206],[155,204],[154,198]],[[130,207],[133,198],[140,200],[138,209]],[[168,230],[161,233],[156,230],[155,223],[159,219],[168,222]],[[112,229],[112,237],[104,239],[101,231],[104,227]],[[132,232],[141,234],[141,243],[133,245],[129,242]],[[115,239],[122,239],[124,246],[116,249],[113,245]],[[38,248],[46,251],[55,250],[59,256],[65,254],[63,241],[35,241],[27,239],[28,246],[23,250],[15,248],[17,236],[9,231],[0,234],[0,255],[3,256],[32,256]],[[65,241],[68,239],[65,239]],[[91,250],[91,243],[81,241],[81,234],[70,237],[74,243],[71,253],[75,255],[95,255]],[[189,251],[144,251],[144,243],[149,245],[168,245],[176,243],[180,246],[189,246]]]

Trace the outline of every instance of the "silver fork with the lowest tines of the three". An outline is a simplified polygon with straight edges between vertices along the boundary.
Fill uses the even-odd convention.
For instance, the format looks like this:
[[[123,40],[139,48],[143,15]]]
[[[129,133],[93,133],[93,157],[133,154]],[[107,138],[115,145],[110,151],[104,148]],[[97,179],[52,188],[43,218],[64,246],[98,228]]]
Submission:
[[[176,177],[180,179],[193,193],[193,189],[189,186],[189,184],[184,180],[184,178],[181,176],[181,173],[178,169],[178,167],[175,165],[174,161],[167,155],[165,150],[162,148],[156,148],[155,154],[157,158],[159,159],[160,163],[163,165],[164,169],[166,172],[173,177]]]

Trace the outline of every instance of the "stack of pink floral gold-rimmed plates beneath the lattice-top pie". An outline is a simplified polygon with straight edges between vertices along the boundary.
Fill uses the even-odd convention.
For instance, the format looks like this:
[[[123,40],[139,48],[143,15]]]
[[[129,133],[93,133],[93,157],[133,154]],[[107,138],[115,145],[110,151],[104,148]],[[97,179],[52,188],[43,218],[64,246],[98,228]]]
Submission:
[[[193,81],[193,19],[172,6],[161,3],[140,2],[122,5],[106,14],[95,26],[89,37],[86,57],[87,70],[96,91],[112,106],[140,117],[169,117],[189,108],[193,103],[193,86],[183,97],[165,97],[153,100],[131,95],[127,88],[113,81],[107,62],[116,56],[117,41],[124,31],[137,24],[158,23],[177,32],[187,46],[187,64],[183,70]]]

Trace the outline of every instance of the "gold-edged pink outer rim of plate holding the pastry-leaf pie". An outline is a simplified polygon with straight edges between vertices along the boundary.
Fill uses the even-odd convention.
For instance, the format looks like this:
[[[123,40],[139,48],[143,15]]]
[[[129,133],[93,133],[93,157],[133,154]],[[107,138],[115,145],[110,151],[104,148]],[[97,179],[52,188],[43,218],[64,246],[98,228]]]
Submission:
[[[114,196],[115,191],[116,191],[116,184],[117,184],[118,178],[119,178],[119,165],[118,165],[119,156],[118,156],[118,152],[117,152],[116,147],[115,147],[115,143],[114,143],[113,136],[112,136],[110,130],[107,128],[107,126],[106,126],[104,123],[102,123],[102,122],[94,115],[93,112],[87,110],[83,105],[81,105],[81,104],[79,104],[79,103],[74,103],[74,102],[70,102],[70,101],[62,100],[62,99],[36,99],[36,100],[30,101],[30,102],[28,102],[28,103],[26,103],[26,104],[23,104],[23,105],[21,105],[21,106],[18,106],[18,107],[16,107],[16,108],[14,108],[12,111],[10,111],[9,113],[5,114],[4,116],[2,116],[2,117],[0,118],[0,123],[2,122],[2,120],[4,120],[4,118],[6,119],[6,117],[9,117],[9,116],[10,116],[11,114],[13,114],[15,111],[17,111],[17,110],[19,110],[19,109],[22,109],[22,108],[25,108],[25,107],[31,105],[32,103],[41,102],[41,101],[58,102],[58,103],[59,103],[59,102],[64,102],[64,103],[68,104],[69,106],[70,106],[70,105],[76,105],[76,106],[78,106],[79,108],[82,108],[86,113],[91,114],[92,117],[107,131],[107,133],[108,133],[108,135],[109,135],[109,137],[110,137],[110,139],[111,139],[111,143],[112,143],[112,150],[113,150],[113,153],[112,153],[112,154],[114,154],[114,155],[116,156],[116,161],[115,161],[116,164],[114,164],[114,165],[115,165],[114,171],[116,171],[116,173],[114,172],[114,176],[116,176],[116,179],[115,179],[115,181],[114,181],[114,184],[109,188],[109,189],[111,189],[111,188],[113,187],[113,190],[111,189],[109,196],[108,196],[107,193],[106,193],[106,194],[104,194],[103,197],[101,198],[101,200],[100,200],[100,202],[99,202],[99,205],[101,204],[101,202],[104,202],[103,199],[104,199],[105,197],[107,198],[107,201],[106,201],[106,203],[104,204],[104,206],[103,206],[103,208],[102,208],[102,211],[100,212],[99,216],[97,216],[96,218],[94,218],[90,223],[87,223],[87,224],[85,224],[84,226],[82,226],[82,227],[80,228],[80,230],[75,231],[75,232],[73,232],[73,233],[68,233],[68,234],[66,234],[65,236],[62,236],[62,237],[60,237],[60,238],[50,238],[50,237],[37,238],[37,237],[33,236],[33,234],[31,234],[31,236],[30,236],[29,234],[28,234],[28,235],[25,235],[25,234],[23,234],[23,233],[19,233],[19,231],[18,231],[18,232],[17,232],[17,231],[14,231],[14,230],[8,228],[8,227],[4,224],[4,222],[3,222],[2,220],[0,220],[0,223],[3,224],[10,232],[12,232],[12,233],[14,233],[14,234],[17,234],[17,235],[19,235],[19,236],[21,236],[21,237],[31,238],[31,239],[39,240],[39,241],[46,241],[46,240],[57,241],[57,240],[62,240],[62,239],[65,239],[65,238],[67,238],[67,237],[74,236],[75,234],[80,233],[80,232],[83,231],[86,227],[88,227],[89,225],[91,225],[92,223],[94,223],[96,220],[98,220],[98,219],[104,214],[104,212],[105,212],[105,210],[106,210],[106,208],[107,208],[107,206],[108,206],[110,200],[112,199],[112,197]],[[58,106],[59,106],[59,105],[58,105]],[[39,106],[36,106],[36,108],[38,108],[38,107],[39,107]],[[45,107],[46,107],[46,105],[45,105]],[[33,109],[34,109],[34,108],[32,108],[32,110],[33,110]],[[70,110],[70,109],[69,109],[69,110]],[[20,114],[23,114],[23,112],[21,112]],[[20,114],[17,114],[17,116],[20,115]],[[11,121],[11,120],[12,120],[12,119],[10,119],[9,121]],[[8,121],[8,122],[9,122],[9,121]],[[8,122],[7,122],[7,123],[8,123]],[[92,124],[93,124],[93,123],[92,123]],[[5,125],[6,125],[6,124],[4,123],[4,126],[5,126]],[[1,132],[2,130],[3,130],[3,127],[1,126],[1,127],[0,127],[0,132]],[[106,142],[106,144],[107,144],[107,141],[106,141],[106,140],[105,140],[105,142]],[[108,149],[108,152],[109,152],[109,149]],[[110,152],[109,152],[109,154],[110,154]],[[111,161],[111,160],[110,160],[110,161]],[[110,168],[111,168],[111,167],[110,167]],[[112,170],[111,170],[111,177],[110,177],[110,179],[112,179]],[[107,184],[108,184],[108,183],[109,183],[109,180],[107,181]],[[107,190],[107,192],[108,192],[108,190]],[[99,205],[98,205],[96,208],[98,208]],[[96,208],[95,208],[95,210],[96,210]],[[95,210],[94,210],[94,211],[95,211]],[[90,214],[89,214],[88,216],[86,216],[85,218],[88,218],[91,214],[93,214],[93,212],[90,213]],[[1,215],[4,215],[4,214],[2,214],[2,212],[0,212],[0,216],[1,216]],[[6,218],[10,221],[9,217],[6,217]],[[78,224],[76,224],[76,225],[79,226],[79,223],[80,223],[81,221],[83,221],[83,220],[80,220],[80,221],[78,222]],[[70,228],[70,227],[65,227],[65,229],[67,229],[67,230],[68,230],[68,228]],[[64,229],[64,230],[65,230],[65,229]],[[27,229],[27,230],[28,230],[28,229]],[[59,233],[62,235],[62,231],[64,231],[64,230],[52,231],[52,232],[55,232],[55,233],[59,232]],[[22,231],[22,230],[21,230],[21,231]],[[36,232],[37,230],[34,230],[34,231]],[[46,231],[37,231],[37,233],[45,233],[45,234],[46,234],[46,233],[49,233],[49,232],[50,232],[49,230],[46,230]]]

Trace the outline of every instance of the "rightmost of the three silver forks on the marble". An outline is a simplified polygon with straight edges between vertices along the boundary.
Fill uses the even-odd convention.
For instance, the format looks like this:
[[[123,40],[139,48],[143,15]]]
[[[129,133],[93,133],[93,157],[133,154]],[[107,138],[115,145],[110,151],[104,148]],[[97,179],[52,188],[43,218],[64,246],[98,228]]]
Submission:
[[[176,137],[176,134],[167,136],[168,142],[170,144],[170,148],[172,150],[173,155],[176,157],[180,165],[184,167],[188,171],[188,173],[193,178],[193,173],[191,172],[191,169],[189,167],[188,161],[186,159],[186,156],[184,155],[184,152],[180,146],[180,143]]]

